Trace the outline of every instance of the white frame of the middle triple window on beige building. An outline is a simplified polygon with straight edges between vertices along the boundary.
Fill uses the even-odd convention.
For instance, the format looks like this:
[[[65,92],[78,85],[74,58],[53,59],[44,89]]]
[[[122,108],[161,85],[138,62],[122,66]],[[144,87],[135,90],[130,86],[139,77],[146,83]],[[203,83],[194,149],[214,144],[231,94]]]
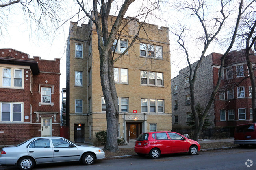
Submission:
[[[147,84],[142,84],[141,83],[141,85],[143,85],[143,86],[161,86],[161,87],[163,87],[163,84],[164,84],[164,82],[163,82],[163,73],[160,73],[160,72],[154,72],[154,71],[147,71],[147,74],[145,75],[145,77],[143,77],[144,76],[144,74],[142,74],[142,73],[145,73],[146,71],[144,71],[144,70],[141,70],[140,71],[140,76],[141,76],[141,79],[147,79]],[[162,79],[159,77],[159,76],[157,76],[157,75],[162,75],[161,77],[162,77]],[[153,77],[151,77],[150,78],[150,75],[154,75],[154,78]],[[154,79],[154,84],[150,84],[150,79],[152,80],[152,79]],[[159,85],[158,84],[158,80],[162,80],[161,82],[161,84]],[[142,82],[142,81],[141,81]]]

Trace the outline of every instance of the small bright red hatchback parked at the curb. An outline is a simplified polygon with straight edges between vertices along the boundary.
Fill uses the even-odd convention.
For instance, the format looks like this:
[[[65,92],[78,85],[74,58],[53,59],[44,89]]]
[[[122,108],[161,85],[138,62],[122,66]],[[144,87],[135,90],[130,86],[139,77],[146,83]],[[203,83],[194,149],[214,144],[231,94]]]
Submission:
[[[196,155],[200,148],[197,141],[176,132],[148,132],[139,135],[134,151],[139,156],[149,155],[152,159],[158,159],[161,154],[188,152]]]

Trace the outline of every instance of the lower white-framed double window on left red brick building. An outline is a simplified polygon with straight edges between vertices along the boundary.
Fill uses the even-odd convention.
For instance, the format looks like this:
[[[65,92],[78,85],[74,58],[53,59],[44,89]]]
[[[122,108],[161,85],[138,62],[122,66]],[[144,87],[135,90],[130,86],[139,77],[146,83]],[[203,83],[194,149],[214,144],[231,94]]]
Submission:
[[[23,103],[0,103],[1,122],[23,122]]]

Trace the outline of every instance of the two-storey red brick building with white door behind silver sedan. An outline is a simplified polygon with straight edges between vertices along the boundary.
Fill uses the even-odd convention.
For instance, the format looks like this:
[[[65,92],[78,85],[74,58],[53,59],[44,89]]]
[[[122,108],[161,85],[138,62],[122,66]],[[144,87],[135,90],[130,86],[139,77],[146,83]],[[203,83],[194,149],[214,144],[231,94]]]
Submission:
[[[59,136],[59,62],[0,49],[0,146]]]

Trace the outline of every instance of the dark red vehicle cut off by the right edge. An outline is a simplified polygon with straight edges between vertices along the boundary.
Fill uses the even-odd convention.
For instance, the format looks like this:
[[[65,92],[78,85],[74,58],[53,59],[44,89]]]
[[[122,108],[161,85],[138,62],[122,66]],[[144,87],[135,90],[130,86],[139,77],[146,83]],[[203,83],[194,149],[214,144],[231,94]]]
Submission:
[[[234,132],[234,144],[240,144],[240,146],[256,144],[256,123],[237,125]]]

